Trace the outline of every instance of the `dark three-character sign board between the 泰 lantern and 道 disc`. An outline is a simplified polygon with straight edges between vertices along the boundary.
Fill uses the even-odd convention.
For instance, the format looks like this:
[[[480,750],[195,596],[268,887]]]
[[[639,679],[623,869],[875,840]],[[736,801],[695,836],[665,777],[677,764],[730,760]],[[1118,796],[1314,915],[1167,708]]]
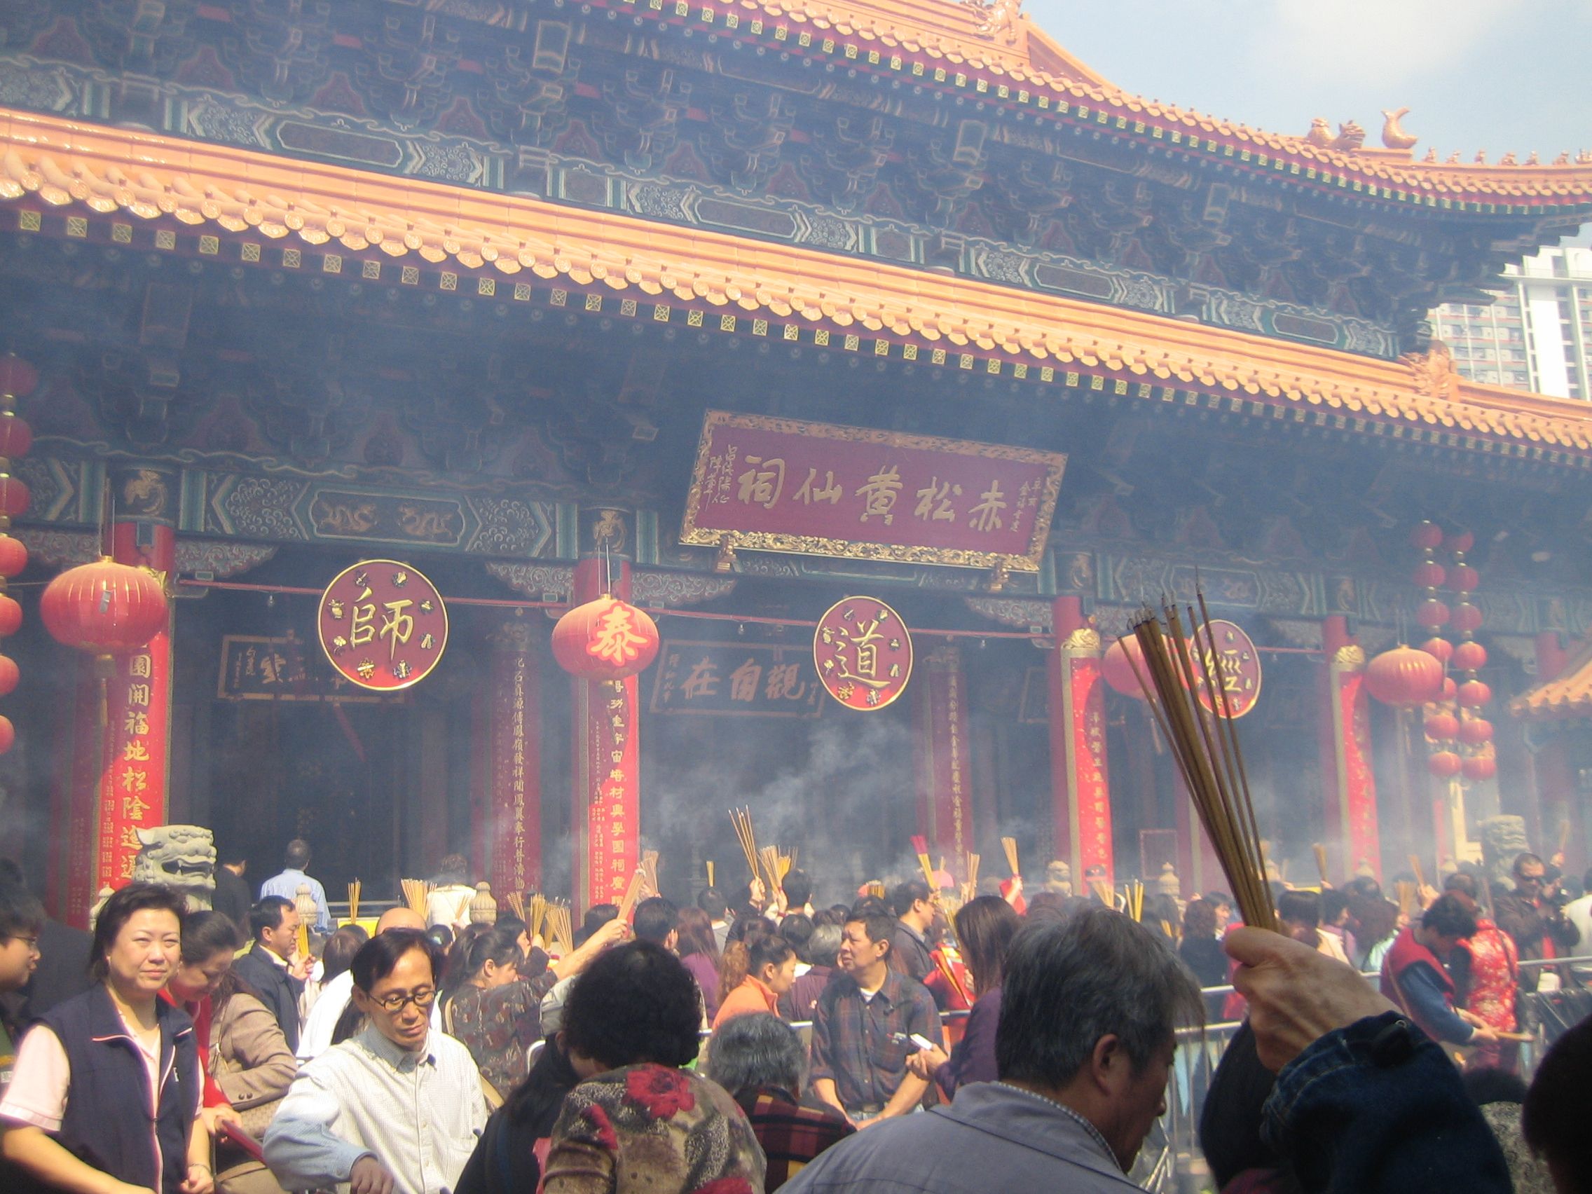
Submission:
[[[815,718],[821,688],[806,650],[670,638],[654,672],[653,713]]]

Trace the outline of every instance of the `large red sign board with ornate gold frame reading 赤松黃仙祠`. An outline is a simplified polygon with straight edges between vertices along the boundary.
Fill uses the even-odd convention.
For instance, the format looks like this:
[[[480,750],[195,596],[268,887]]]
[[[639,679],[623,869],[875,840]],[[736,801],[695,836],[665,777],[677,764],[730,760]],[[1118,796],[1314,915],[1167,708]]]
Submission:
[[[1036,572],[1067,457],[708,411],[680,541]]]

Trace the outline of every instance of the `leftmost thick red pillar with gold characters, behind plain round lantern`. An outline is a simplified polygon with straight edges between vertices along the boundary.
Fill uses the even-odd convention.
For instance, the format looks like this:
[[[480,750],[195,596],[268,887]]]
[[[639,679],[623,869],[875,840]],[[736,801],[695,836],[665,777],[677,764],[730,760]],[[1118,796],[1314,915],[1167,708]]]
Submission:
[[[111,474],[118,513],[111,557],[169,581],[177,565],[177,479],[156,470]],[[170,786],[172,626],[131,654],[80,664],[68,772],[65,919],[86,927],[105,888],[132,879],[137,831],[166,825]]]

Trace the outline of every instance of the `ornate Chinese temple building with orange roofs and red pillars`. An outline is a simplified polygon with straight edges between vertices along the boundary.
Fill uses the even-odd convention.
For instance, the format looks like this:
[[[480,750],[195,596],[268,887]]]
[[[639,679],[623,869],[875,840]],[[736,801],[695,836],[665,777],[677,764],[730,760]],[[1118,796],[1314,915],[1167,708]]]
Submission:
[[[1592,411],[1465,377],[1430,312],[1592,220],[1592,164],[1383,140],[1126,94],[1016,0],[8,5],[8,849],[73,920],[167,823],[584,906],[643,847],[745,882],[750,807],[829,896],[914,833],[1188,895],[1108,656],[1197,587],[1294,877],[1501,815],[1584,864],[1584,736],[1508,704],[1592,629]],[[99,661],[38,597],[105,549],[170,618]],[[435,586],[376,640],[435,667],[352,681],[334,581]],[[657,662],[573,678],[605,592]],[[853,618],[911,634],[871,707],[815,662]],[[1434,638],[1452,694],[1369,697]]]

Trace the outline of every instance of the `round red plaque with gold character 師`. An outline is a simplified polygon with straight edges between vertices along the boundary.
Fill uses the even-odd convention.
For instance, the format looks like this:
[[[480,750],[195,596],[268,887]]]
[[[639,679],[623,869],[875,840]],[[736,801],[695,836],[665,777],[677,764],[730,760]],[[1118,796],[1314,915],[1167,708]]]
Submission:
[[[339,572],[320,595],[317,627],[331,665],[379,693],[425,680],[447,646],[443,594],[398,560]]]

